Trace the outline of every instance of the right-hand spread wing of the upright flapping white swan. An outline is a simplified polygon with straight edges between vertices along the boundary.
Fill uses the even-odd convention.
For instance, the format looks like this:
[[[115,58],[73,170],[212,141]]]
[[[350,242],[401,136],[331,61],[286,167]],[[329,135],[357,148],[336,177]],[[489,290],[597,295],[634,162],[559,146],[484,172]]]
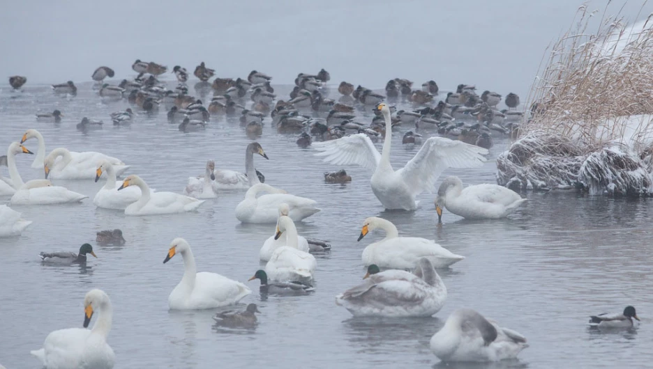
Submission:
[[[412,196],[430,191],[435,181],[446,168],[474,168],[486,161],[482,155],[488,150],[452,141],[444,137],[426,140],[419,152],[396,173],[407,185]]]

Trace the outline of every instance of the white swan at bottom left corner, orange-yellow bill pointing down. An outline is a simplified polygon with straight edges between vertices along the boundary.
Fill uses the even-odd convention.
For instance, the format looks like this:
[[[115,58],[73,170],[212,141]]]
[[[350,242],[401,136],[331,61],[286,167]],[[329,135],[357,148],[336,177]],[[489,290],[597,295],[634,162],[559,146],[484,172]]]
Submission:
[[[98,318],[89,327],[93,313]],[[102,290],[90,290],[84,297],[84,329],[68,328],[53,331],[45,338],[43,348],[33,350],[47,369],[93,368],[110,369],[114,366],[116,355],[107,344],[111,330],[111,301]]]

